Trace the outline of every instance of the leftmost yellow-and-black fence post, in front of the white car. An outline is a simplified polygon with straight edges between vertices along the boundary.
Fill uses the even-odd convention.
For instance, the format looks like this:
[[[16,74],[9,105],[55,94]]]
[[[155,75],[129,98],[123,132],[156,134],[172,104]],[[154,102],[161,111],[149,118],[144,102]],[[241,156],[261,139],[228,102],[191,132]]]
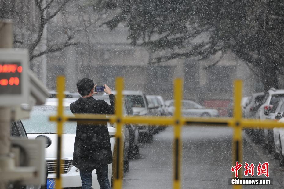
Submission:
[[[56,189],[61,189],[61,147],[63,130],[63,98],[64,98],[65,77],[57,77],[57,169],[56,169]]]

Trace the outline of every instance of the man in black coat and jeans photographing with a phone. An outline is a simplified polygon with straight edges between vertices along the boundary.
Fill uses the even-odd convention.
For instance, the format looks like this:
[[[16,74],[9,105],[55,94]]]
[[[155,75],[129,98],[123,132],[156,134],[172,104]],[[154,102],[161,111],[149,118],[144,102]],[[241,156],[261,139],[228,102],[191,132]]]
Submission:
[[[111,89],[104,85],[104,92],[109,94],[111,105],[104,100],[93,98],[94,82],[84,78],[77,82],[78,100],[70,104],[72,113],[114,114],[115,96]],[[91,189],[92,171],[96,175],[101,189],[110,189],[108,164],[112,163],[110,136],[107,125],[78,124],[74,142],[73,165],[80,169],[82,189]]]

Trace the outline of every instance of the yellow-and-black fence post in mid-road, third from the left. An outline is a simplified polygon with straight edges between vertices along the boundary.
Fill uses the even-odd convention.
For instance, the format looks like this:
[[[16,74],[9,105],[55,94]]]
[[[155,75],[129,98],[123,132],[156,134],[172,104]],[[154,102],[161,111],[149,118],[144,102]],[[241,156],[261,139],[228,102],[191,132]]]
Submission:
[[[182,162],[182,140],[180,140],[182,121],[181,121],[181,99],[183,93],[183,84],[182,79],[175,79],[174,81],[174,104],[175,112],[173,119],[175,120],[174,124],[174,139],[173,139],[173,188],[181,188],[181,162]]]

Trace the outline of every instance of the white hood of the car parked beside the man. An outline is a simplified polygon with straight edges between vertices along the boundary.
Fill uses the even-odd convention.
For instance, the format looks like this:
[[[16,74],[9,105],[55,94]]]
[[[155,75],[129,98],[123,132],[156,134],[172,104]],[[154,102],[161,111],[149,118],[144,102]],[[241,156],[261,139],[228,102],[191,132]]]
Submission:
[[[107,127],[110,135],[115,135],[116,128]],[[27,134],[29,139],[35,139],[38,135],[45,135],[50,138],[51,145],[45,149],[45,158],[54,159],[57,157],[57,134]],[[75,134],[62,134],[62,158],[73,158]]]

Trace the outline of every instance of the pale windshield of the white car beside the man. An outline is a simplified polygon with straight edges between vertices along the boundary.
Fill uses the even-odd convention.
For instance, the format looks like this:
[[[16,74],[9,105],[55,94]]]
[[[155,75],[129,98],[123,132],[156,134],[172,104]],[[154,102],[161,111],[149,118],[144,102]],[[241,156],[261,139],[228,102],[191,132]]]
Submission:
[[[21,119],[27,133],[57,133],[56,122],[49,121],[49,116],[56,114],[57,106],[34,106],[29,119]],[[69,107],[64,107],[65,114],[71,114]],[[65,122],[64,134],[76,134],[76,122]]]

